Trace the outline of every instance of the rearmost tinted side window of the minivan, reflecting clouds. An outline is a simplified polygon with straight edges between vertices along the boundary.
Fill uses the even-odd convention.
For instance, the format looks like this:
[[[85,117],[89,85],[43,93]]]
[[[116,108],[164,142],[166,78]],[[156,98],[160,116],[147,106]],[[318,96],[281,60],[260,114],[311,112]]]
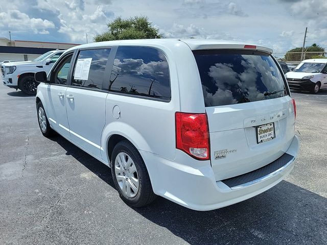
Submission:
[[[164,53],[152,47],[120,46],[109,90],[170,101],[169,68]]]

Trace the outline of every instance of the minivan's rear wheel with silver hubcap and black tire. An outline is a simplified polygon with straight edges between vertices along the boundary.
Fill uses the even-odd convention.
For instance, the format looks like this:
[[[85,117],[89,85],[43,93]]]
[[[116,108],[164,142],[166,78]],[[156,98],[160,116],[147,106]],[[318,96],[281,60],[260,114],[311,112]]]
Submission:
[[[148,170],[132,143],[123,140],[114,146],[110,166],[115,187],[127,205],[139,208],[155,200]]]

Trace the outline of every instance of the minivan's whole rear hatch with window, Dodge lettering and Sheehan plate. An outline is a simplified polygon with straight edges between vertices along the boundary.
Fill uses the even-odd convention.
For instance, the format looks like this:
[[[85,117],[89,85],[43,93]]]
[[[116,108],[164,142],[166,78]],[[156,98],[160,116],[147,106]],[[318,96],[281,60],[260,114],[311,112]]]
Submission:
[[[193,51],[208,117],[216,180],[263,167],[294,137],[294,107],[282,70],[267,52]]]

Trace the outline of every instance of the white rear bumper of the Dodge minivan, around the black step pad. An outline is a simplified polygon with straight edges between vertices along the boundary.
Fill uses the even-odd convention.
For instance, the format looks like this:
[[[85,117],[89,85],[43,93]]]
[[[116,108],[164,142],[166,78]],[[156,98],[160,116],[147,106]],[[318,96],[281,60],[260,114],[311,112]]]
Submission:
[[[185,159],[182,152],[176,152],[175,161],[158,155],[140,151],[147,163],[153,191],[161,197],[167,198],[184,207],[194,210],[213,210],[232,205],[255,195],[258,195],[282,181],[294,167],[294,159],[298,154],[299,141],[294,136],[287,154],[292,156],[279,165],[274,171],[265,172],[264,176],[251,181],[245,179],[242,186],[231,188],[223,181],[216,181],[209,161],[196,161],[199,167],[194,167],[193,159],[187,166],[178,163]],[[185,154],[184,154],[185,155]],[[268,164],[269,165],[269,164]],[[193,167],[192,167],[193,166]],[[237,177],[236,177],[237,178]],[[239,182],[240,183],[240,182]]]

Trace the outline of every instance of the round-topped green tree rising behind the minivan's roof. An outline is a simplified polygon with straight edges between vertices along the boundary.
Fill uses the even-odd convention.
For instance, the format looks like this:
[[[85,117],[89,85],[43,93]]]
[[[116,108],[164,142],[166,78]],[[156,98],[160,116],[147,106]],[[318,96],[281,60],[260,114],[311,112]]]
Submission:
[[[135,16],[127,19],[117,17],[108,22],[107,26],[108,31],[95,36],[94,40],[96,42],[162,37],[159,30],[153,27],[151,21],[145,16]]]

